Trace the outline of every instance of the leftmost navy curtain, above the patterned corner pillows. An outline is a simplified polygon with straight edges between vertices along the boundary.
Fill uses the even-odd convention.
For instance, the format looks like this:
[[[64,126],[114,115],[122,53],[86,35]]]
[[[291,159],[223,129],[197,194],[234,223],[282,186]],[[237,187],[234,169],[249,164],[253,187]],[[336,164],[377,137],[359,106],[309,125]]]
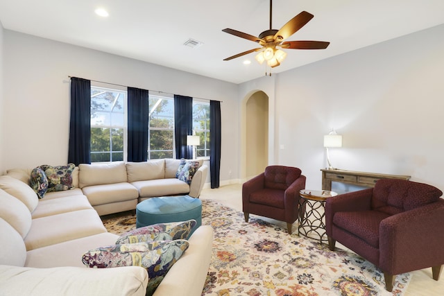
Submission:
[[[68,162],[91,164],[91,81],[71,77]]]

